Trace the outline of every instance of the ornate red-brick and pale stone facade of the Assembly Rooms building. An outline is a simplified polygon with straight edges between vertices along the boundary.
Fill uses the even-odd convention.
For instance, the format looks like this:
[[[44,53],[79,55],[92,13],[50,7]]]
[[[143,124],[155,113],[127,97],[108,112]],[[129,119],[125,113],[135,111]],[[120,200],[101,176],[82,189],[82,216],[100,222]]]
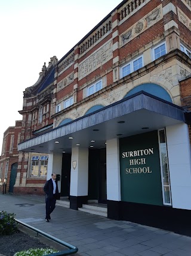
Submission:
[[[191,4],[186,0],[123,1],[60,61],[55,56],[51,58],[48,67],[42,67],[38,82],[26,88],[23,110],[19,112],[23,116],[20,142],[56,128],[64,119],[84,116],[91,107],[115,103],[144,83],[161,86],[172,103],[189,111],[190,78],[179,80],[191,74],[190,56],[181,52],[180,47],[182,44],[190,51],[190,20]],[[153,49],[162,43],[166,47],[165,55],[155,59]],[[133,65],[134,59],[140,56],[143,67],[122,76],[122,67]],[[88,86],[99,80],[102,88],[88,96]],[[73,104],[65,108],[64,101],[70,97]],[[58,104],[61,107],[57,112]],[[11,129],[13,133],[16,130],[10,128],[10,132]],[[30,176],[33,151],[16,154],[18,170],[14,192],[41,194],[46,177]],[[10,153],[7,157],[14,162]],[[1,156],[5,164],[3,159]]]

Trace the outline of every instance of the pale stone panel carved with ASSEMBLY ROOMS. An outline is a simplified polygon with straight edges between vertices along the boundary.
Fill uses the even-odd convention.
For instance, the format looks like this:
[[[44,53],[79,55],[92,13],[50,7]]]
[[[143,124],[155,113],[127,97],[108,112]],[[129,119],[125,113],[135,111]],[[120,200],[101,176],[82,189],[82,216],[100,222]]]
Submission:
[[[113,50],[111,40],[79,64],[79,80],[109,61],[109,59],[112,58],[112,55]]]

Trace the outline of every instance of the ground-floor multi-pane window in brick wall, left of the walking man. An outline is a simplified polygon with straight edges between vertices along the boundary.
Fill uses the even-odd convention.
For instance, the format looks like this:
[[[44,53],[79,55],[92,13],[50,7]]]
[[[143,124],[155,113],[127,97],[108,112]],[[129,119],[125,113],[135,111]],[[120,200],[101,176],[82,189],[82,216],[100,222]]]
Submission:
[[[47,176],[48,156],[32,156],[31,177]]]

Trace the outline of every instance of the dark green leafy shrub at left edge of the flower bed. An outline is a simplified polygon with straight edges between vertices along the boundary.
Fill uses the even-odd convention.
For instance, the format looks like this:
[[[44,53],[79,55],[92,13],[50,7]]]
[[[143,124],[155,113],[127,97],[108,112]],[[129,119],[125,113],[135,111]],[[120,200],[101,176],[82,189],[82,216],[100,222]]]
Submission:
[[[0,212],[0,236],[13,234],[18,229],[18,224],[14,219],[14,213]]]

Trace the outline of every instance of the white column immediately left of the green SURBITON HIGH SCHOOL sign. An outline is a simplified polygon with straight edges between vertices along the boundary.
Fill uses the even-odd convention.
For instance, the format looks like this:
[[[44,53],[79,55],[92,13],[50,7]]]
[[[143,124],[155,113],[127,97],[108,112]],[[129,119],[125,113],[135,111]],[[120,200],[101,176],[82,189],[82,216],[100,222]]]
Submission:
[[[121,201],[119,139],[106,141],[107,200]]]

